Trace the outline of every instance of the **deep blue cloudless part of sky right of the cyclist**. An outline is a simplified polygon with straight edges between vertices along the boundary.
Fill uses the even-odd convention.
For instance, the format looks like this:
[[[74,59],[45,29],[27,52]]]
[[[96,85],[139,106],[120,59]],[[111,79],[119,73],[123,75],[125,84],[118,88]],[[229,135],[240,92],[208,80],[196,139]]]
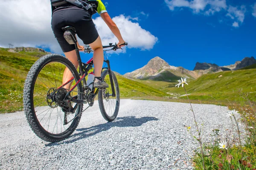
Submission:
[[[153,49],[127,49],[125,54],[111,55],[112,69],[125,74],[143,67],[151,58],[159,56],[169,65],[192,70],[196,62],[230,65],[244,57],[256,57],[256,17],[252,15],[253,0],[227,0],[228,5],[245,5],[247,12],[241,26],[223,10],[211,16],[195,13],[183,7],[171,11],[162,1],[108,2],[110,16],[125,14],[139,17],[140,26],[158,38]],[[140,14],[143,11],[146,15]]]

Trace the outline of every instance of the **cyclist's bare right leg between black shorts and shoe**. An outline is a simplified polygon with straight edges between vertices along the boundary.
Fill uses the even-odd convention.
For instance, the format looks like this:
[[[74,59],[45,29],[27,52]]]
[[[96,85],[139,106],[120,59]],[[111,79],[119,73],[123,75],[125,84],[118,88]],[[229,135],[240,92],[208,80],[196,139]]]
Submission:
[[[93,43],[89,44],[93,49],[93,64],[95,77],[101,77],[102,65],[103,65],[103,48],[100,37],[98,37]]]

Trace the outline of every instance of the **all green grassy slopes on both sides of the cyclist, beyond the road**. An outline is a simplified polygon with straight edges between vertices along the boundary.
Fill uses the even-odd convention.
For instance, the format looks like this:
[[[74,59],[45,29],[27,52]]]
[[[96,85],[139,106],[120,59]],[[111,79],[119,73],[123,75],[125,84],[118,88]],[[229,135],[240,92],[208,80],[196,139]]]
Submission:
[[[22,90],[26,74],[33,63],[45,54],[26,51],[12,53],[8,52],[8,48],[0,48],[0,113],[22,110]],[[175,87],[175,78],[155,81],[133,79],[118,74],[116,77],[121,98],[187,102],[183,89]],[[188,81],[186,90],[194,103],[232,103],[244,106],[246,103],[239,96],[238,89],[248,92],[250,100],[256,100],[256,65],[237,71],[205,74],[196,80]]]

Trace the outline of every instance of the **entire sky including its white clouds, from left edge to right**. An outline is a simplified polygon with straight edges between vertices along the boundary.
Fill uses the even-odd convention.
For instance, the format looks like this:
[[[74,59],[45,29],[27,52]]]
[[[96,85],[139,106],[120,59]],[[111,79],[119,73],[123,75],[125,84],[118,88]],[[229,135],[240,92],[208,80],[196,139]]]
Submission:
[[[49,25],[51,16],[48,2],[35,0],[36,3],[30,8],[23,5],[23,1],[29,0],[17,1],[20,4],[4,2],[8,3],[10,8],[4,6],[5,8],[1,9],[6,10],[0,14],[6,14],[0,16],[6,18],[6,21],[0,21],[3,26],[0,28],[0,37],[3,40],[0,39],[0,46],[7,47],[8,41],[15,46],[36,46],[61,53],[54,50],[59,47]],[[114,21],[121,32],[124,32],[124,38],[126,37],[125,40],[129,43],[129,47],[122,53],[108,54],[112,70],[120,74],[143,67],[156,56],[164,59],[169,65],[182,66],[189,70],[195,67],[196,62],[210,62],[223,66],[234,64],[244,57],[256,57],[256,0],[102,2],[107,4],[108,13],[115,18]],[[10,11],[13,9],[18,12],[21,5],[27,9],[20,11],[18,17],[12,17],[15,13]],[[40,11],[36,10],[37,5],[41,8]],[[29,15],[29,12],[32,15]],[[99,14],[93,15],[93,19],[104,39],[103,42],[115,41],[110,31],[102,24]],[[26,25],[21,27],[22,24]],[[24,29],[23,34],[18,34],[19,31],[14,30],[19,26],[19,31]],[[27,28],[31,30],[26,34]],[[82,60],[85,62],[90,56],[82,54]]]

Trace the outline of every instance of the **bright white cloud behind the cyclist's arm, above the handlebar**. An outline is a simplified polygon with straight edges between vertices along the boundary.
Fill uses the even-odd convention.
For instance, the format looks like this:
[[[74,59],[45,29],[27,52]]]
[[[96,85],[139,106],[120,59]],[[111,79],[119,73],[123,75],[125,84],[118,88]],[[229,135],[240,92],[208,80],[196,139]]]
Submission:
[[[103,44],[118,41],[101,17],[97,17],[93,21]],[[120,29],[123,39],[128,42],[128,48],[149,50],[157,43],[157,37],[152,35],[149,31],[141,28],[139,23],[133,23],[130,20],[130,17],[119,15],[117,17],[113,17],[113,21]]]

